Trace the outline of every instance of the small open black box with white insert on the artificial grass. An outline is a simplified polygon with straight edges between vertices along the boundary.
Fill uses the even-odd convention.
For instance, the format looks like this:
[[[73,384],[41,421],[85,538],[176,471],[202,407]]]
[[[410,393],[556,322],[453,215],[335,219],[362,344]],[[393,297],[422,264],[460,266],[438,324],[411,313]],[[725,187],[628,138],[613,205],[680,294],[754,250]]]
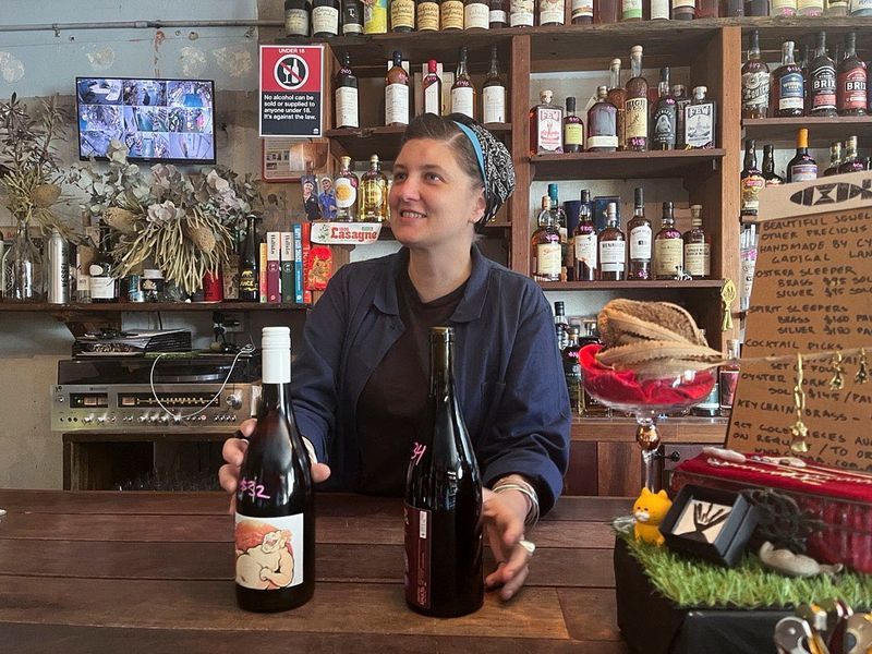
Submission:
[[[739,493],[688,484],[661,524],[676,552],[732,567],[756,526],[756,509]]]

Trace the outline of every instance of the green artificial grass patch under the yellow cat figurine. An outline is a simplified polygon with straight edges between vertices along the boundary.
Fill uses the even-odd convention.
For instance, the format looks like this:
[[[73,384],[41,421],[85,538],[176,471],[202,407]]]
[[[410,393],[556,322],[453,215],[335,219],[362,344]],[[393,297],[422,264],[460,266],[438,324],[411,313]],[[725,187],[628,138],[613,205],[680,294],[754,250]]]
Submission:
[[[785,608],[837,598],[855,609],[872,607],[872,574],[843,572],[836,577],[785,577],[763,568],[748,555],[735,568],[686,558],[668,547],[637,542],[618,532],[654,588],[680,608]]]

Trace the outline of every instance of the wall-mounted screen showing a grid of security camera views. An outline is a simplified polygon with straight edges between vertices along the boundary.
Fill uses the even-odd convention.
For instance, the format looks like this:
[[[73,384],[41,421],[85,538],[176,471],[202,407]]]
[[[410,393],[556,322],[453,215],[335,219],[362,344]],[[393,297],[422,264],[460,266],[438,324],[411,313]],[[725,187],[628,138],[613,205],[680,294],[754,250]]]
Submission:
[[[124,143],[131,161],[215,164],[211,80],[76,77],[80,159]]]

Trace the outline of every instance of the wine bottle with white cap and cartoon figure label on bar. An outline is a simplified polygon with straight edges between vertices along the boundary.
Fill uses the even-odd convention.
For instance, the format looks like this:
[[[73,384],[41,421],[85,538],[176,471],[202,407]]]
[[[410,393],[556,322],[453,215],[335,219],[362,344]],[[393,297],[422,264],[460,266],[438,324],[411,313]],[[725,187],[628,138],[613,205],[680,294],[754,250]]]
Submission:
[[[271,613],[315,592],[315,492],[291,403],[288,327],[264,327],[262,362],[257,425],[239,471],[235,581],[241,608]]]

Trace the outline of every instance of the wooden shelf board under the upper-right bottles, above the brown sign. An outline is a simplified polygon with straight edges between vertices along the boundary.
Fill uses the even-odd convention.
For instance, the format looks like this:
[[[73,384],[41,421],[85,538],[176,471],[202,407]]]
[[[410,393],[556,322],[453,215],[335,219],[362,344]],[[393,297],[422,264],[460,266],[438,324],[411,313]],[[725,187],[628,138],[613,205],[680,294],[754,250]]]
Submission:
[[[800,128],[809,129],[809,147],[829,147],[831,142],[845,141],[853,134],[859,137],[861,147],[868,147],[872,141],[872,116],[836,116],[833,118],[802,116],[799,118],[754,118],[742,121],[744,137],[756,140],[756,148],[761,153],[764,144],[772,144],[776,147],[796,147],[797,131]]]

